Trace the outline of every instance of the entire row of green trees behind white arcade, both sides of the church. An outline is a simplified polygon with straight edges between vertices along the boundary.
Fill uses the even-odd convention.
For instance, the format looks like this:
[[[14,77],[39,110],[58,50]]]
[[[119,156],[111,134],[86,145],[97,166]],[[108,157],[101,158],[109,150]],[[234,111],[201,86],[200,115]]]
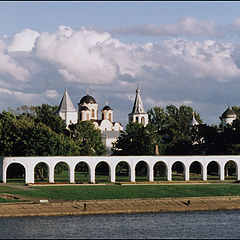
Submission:
[[[100,130],[91,121],[66,128],[57,106],[21,106],[0,114],[1,156],[104,155]],[[221,124],[204,124],[189,107],[169,105],[148,111],[149,124],[129,123],[112,150],[113,155],[226,155],[240,153],[240,108],[237,119],[222,132]],[[192,116],[199,125],[190,128]]]

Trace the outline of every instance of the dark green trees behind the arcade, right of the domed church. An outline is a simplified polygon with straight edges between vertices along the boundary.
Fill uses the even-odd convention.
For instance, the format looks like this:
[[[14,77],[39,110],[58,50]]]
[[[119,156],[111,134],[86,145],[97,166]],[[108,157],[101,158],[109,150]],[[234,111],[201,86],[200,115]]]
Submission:
[[[173,105],[148,111],[149,124],[130,123],[113,147],[114,155],[227,155],[240,154],[240,108],[232,107],[237,119],[222,132],[222,125],[209,126],[195,114],[199,125],[190,127],[193,109]]]

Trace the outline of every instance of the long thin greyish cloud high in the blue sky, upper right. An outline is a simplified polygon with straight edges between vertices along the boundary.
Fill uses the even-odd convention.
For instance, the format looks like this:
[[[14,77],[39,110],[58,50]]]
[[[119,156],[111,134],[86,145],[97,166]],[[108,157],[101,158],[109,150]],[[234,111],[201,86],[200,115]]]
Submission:
[[[221,28],[214,21],[199,21],[192,17],[180,19],[175,24],[165,25],[141,25],[132,27],[113,28],[112,33],[115,34],[137,34],[152,36],[222,36]]]

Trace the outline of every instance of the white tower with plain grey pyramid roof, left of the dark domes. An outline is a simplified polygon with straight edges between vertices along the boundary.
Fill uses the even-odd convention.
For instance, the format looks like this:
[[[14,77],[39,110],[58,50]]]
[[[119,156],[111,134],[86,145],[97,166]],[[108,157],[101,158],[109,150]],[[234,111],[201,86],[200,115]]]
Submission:
[[[65,89],[57,114],[66,122],[67,126],[78,121],[78,113],[72,104],[67,89]]]

